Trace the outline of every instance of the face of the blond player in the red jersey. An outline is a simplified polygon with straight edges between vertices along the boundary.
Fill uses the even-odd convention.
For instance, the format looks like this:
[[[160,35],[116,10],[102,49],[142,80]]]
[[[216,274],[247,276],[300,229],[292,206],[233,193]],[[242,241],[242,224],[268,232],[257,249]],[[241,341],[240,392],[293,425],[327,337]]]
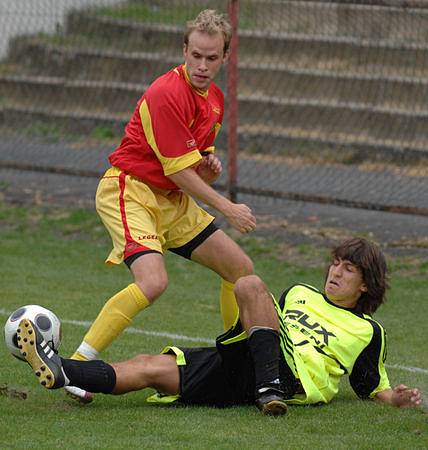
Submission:
[[[224,39],[218,33],[210,35],[193,31],[183,54],[190,82],[197,89],[205,90],[218,74],[227,55],[223,53]]]

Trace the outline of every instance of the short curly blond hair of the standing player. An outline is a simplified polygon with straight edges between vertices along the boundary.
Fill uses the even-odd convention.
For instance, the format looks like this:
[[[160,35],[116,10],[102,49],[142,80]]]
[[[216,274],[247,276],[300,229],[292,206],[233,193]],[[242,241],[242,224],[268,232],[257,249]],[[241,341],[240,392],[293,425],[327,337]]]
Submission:
[[[223,36],[223,54],[229,50],[232,39],[232,27],[224,14],[218,14],[214,9],[204,9],[194,20],[186,23],[184,31],[184,44],[189,44],[189,36],[193,31],[202,31],[208,34],[220,33]]]

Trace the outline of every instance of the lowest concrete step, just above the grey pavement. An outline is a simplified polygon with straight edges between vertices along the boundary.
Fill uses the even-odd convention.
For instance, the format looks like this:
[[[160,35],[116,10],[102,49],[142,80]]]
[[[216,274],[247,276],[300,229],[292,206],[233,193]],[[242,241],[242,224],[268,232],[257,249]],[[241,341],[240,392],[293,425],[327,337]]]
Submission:
[[[123,114],[94,113],[30,106],[0,107],[0,126],[22,132],[26,127],[46,124],[57,127],[61,135],[91,136],[97,128],[108,128],[119,142],[129,117]],[[388,135],[389,136],[389,135]],[[284,122],[272,125],[260,121],[254,124],[240,124],[238,127],[240,150],[243,152],[269,155],[316,155],[327,152],[330,161],[340,162],[347,158],[367,158],[382,161],[404,161],[428,158],[427,142],[405,137],[377,136],[376,134],[349,132],[342,129],[315,129],[310,125],[293,127]],[[217,139],[218,149],[227,147],[227,129]],[[357,152],[357,154],[355,154]],[[333,155],[333,156],[332,156]]]

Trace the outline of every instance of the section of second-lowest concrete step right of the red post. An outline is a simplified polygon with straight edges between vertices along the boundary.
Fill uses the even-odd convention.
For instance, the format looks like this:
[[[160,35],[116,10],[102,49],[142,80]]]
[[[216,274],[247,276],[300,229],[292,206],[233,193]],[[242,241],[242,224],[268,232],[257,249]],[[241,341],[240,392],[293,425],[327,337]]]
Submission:
[[[264,108],[262,102],[265,102]],[[372,139],[376,139],[406,141],[428,147],[427,119],[427,109],[409,114],[391,108],[342,102],[239,98],[240,125],[256,130],[268,128],[270,132],[283,127],[296,128],[305,130],[303,138],[317,132],[352,135],[361,142],[367,142],[368,146]]]

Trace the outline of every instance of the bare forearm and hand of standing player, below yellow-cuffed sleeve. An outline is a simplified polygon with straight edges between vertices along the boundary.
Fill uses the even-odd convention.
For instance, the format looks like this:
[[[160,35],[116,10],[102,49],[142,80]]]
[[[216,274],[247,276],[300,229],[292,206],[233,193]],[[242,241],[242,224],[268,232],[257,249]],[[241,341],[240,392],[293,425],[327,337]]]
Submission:
[[[181,190],[223,214],[241,233],[248,233],[256,227],[256,219],[247,205],[233,203],[219,194],[192,167],[175,172],[169,178]]]

